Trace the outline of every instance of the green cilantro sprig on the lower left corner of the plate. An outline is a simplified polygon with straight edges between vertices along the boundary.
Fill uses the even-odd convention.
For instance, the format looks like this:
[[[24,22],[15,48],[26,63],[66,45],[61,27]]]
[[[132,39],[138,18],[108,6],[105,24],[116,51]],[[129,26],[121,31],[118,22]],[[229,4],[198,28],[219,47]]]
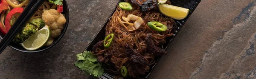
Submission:
[[[75,66],[85,74],[95,77],[103,75],[104,69],[102,63],[98,62],[97,57],[91,54],[90,51],[84,51],[81,54],[77,54],[76,57],[77,62],[75,62]]]

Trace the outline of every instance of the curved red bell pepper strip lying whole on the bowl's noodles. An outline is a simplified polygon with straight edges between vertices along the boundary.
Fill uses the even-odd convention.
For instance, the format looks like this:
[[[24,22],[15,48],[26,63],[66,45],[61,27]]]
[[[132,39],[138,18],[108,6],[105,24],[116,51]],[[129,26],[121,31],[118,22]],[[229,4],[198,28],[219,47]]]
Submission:
[[[5,20],[5,25],[6,25],[6,31],[9,31],[11,28],[11,23],[10,20],[12,19],[12,16],[16,13],[22,13],[24,9],[23,8],[14,8],[12,9],[7,15],[6,15],[6,20]]]

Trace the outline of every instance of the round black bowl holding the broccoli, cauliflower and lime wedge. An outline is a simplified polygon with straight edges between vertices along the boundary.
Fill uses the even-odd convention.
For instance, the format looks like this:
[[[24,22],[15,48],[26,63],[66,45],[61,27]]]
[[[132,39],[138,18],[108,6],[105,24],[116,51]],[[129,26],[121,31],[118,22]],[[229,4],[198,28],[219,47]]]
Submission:
[[[67,30],[67,26],[68,26],[68,23],[69,23],[69,8],[68,8],[68,5],[67,5],[67,0],[63,0],[63,12],[62,14],[64,14],[65,18],[66,18],[66,23],[64,25],[64,29],[61,31],[61,35],[58,37],[58,38],[55,38],[55,40],[52,42],[51,45],[47,46],[47,47],[41,47],[35,51],[28,51],[26,50],[25,48],[23,48],[22,46],[18,45],[18,44],[15,44],[13,42],[10,42],[9,44],[9,47],[17,50],[17,51],[21,51],[21,52],[25,52],[25,53],[36,53],[36,52],[41,52],[41,51],[45,51],[51,47],[53,47],[54,45],[56,45],[60,40],[61,38],[64,36],[66,30]],[[3,39],[4,37],[4,34],[2,34],[0,32],[0,38],[1,40]]]

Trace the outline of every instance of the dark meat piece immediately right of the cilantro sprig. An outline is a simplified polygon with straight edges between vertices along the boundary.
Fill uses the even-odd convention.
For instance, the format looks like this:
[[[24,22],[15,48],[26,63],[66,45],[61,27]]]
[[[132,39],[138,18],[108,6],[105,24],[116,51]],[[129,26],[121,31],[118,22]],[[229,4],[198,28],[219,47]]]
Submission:
[[[103,54],[100,54],[100,55],[97,56],[97,60],[99,62],[106,63],[106,62],[108,62],[109,59],[112,58],[112,55],[113,55],[114,52],[115,52],[114,50],[109,51],[108,54],[105,57],[104,57]]]

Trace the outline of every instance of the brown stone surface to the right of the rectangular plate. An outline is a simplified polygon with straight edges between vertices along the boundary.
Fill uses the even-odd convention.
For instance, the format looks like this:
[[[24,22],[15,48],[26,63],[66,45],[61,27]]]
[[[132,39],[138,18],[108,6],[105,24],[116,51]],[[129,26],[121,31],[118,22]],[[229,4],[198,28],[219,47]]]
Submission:
[[[150,79],[256,79],[255,0],[202,0]]]

